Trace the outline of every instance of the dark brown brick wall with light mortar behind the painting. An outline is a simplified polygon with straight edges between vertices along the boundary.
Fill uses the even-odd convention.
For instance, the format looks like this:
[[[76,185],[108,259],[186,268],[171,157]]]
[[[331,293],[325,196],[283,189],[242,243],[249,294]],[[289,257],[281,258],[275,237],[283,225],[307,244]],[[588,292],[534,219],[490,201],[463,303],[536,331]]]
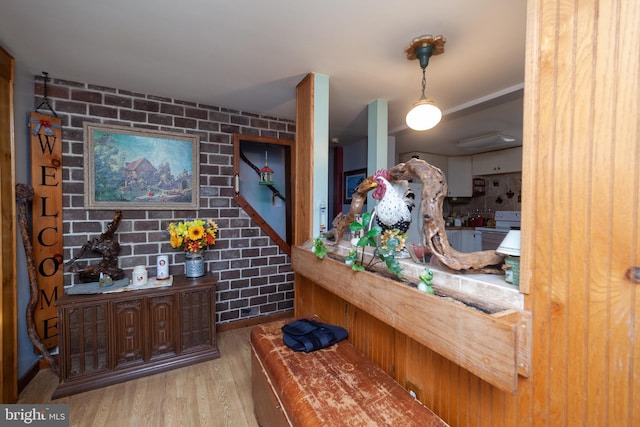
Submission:
[[[35,77],[35,106],[43,80]],[[106,229],[113,211],[84,209],[84,142],[82,124],[132,126],[197,134],[200,137],[199,211],[123,211],[116,237],[119,265],[130,277],[133,266],[146,265],[155,275],[156,256],[169,255],[170,273],[182,274],[184,254],[171,248],[169,222],[187,217],[212,218],[220,228],[216,245],[206,252],[206,268],[218,278],[220,323],[293,308],[293,272],[289,256],[240,209],[233,199],[233,134],[295,137],[291,120],[262,116],[177,99],[53,79],[47,84],[50,104],[63,126],[64,257]],[[41,110],[40,112],[46,113]],[[82,258],[80,265],[100,258]],[[65,285],[75,281],[65,273]]]

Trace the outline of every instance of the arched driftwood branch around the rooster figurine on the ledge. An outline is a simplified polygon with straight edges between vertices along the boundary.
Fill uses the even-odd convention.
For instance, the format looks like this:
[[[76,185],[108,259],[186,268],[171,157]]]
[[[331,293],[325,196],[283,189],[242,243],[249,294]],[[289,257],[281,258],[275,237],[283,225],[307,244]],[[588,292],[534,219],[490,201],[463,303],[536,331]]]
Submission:
[[[445,266],[452,270],[501,274],[503,257],[495,251],[458,252],[451,247],[444,227],[442,205],[447,195],[447,181],[442,171],[424,160],[411,159],[389,169],[391,181],[419,179],[422,181],[422,216],[424,221],[423,245]],[[365,179],[356,188],[351,209],[338,215],[333,223],[336,243],[344,231],[362,211],[364,200],[371,189],[372,177]]]

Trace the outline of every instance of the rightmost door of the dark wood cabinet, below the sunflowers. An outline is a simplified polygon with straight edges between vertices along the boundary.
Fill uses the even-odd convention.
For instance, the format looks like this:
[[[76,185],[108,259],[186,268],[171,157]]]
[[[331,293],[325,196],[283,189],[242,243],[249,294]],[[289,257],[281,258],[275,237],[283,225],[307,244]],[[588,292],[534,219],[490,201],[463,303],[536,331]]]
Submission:
[[[180,297],[181,351],[197,351],[215,344],[214,289],[183,292]]]

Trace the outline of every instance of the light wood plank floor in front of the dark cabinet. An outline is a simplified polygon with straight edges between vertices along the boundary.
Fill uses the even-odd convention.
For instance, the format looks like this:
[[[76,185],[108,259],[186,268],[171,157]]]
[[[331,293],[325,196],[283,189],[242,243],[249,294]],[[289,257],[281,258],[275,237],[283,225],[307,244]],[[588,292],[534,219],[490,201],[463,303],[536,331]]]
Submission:
[[[18,403],[69,404],[71,426],[257,426],[250,331],[219,333],[219,359],[53,401],[58,378],[45,369],[20,393]]]

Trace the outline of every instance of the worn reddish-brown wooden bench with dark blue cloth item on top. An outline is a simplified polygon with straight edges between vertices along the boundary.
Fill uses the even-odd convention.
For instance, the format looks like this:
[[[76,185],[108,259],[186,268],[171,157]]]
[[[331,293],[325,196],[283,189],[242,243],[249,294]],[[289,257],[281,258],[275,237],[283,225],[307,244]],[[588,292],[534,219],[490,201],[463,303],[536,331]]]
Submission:
[[[251,331],[260,426],[447,425],[347,340],[310,353],[292,351],[282,341],[285,323]]]

